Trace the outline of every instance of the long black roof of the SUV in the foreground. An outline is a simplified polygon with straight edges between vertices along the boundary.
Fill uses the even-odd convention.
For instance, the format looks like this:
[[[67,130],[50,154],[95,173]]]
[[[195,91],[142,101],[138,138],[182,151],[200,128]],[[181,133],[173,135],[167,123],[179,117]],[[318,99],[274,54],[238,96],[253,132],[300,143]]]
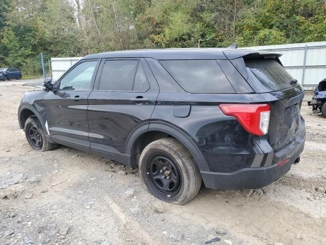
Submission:
[[[272,53],[235,48],[164,48],[152,50],[114,51],[86,56],[82,59],[105,58],[154,58],[157,60],[186,59],[236,59],[249,54],[270,55]],[[274,54],[277,57],[280,54]]]

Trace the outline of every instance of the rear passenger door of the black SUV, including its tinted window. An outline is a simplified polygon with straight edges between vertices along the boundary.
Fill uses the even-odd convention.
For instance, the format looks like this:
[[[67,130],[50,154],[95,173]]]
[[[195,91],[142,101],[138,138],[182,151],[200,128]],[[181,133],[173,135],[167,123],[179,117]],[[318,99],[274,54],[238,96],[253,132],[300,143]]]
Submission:
[[[126,139],[149,122],[158,85],[144,59],[102,60],[98,73],[88,100],[91,150],[127,164],[121,158]]]

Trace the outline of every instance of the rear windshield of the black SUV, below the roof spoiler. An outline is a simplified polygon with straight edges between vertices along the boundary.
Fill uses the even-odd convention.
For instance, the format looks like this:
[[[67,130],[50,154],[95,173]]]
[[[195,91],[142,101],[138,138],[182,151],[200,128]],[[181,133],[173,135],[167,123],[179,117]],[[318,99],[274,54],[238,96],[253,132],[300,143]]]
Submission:
[[[256,92],[271,92],[292,87],[293,79],[274,59],[245,60],[248,83]]]

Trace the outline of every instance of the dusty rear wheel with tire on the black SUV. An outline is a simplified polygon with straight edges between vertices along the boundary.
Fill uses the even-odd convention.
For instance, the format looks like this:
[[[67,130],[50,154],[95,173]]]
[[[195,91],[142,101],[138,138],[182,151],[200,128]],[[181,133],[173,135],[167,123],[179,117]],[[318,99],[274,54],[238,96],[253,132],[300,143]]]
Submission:
[[[162,138],[148,144],[141,154],[139,171],[147,190],[168,203],[188,203],[196,197],[202,184],[192,155],[174,138]]]

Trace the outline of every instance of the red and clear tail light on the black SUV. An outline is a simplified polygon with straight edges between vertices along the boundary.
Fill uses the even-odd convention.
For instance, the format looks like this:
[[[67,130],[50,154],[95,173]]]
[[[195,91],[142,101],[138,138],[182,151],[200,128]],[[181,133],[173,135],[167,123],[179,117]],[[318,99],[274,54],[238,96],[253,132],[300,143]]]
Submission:
[[[253,135],[263,136],[268,132],[270,106],[267,104],[222,104],[224,114],[234,116],[240,125]]]

